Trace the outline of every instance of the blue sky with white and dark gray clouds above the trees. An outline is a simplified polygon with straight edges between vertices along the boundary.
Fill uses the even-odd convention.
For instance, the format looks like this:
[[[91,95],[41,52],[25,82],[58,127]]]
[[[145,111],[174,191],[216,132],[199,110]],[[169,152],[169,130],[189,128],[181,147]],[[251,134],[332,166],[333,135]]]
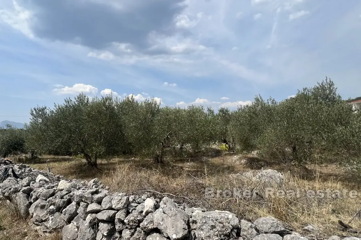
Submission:
[[[236,109],[361,96],[360,0],[1,0],[0,121],[80,92]]]

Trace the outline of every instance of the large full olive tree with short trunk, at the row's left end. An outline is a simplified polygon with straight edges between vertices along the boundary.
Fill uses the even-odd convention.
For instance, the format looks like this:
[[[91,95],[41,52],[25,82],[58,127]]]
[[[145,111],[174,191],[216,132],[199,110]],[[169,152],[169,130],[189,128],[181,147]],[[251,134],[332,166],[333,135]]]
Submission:
[[[67,98],[53,109],[35,108],[29,124],[34,136],[29,137],[29,145],[42,150],[66,146],[72,153],[83,154],[88,166],[97,167],[97,158],[114,153],[114,145],[122,140],[116,113],[112,96],[90,100],[85,94],[74,100]]]

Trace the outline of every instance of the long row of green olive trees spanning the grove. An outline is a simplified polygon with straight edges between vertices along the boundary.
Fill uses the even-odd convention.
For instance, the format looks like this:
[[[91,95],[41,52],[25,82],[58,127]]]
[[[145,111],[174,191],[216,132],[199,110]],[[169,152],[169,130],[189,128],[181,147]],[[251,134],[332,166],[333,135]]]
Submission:
[[[192,105],[161,107],[154,99],[137,101],[79,94],[53,109],[36,107],[26,126],[31,153],[83,154],[97,158],[132,154],[162,162],[166,149],[182,155],[223,143],[240,151],[259,150],[265,158],[305,164],[318,153],[360,157],[360,114],[327,79],[277,102],[256,96],[251,105],[231,111]]]

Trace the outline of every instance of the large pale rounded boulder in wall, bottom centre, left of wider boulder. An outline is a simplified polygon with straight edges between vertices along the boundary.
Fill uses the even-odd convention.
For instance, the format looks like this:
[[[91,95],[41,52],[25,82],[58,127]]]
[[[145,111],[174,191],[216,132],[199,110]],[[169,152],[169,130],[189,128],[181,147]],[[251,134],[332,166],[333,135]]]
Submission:
[[[188,215],[183,210],[165,205],[157,209],[153,217],[154,227],[165,237],[180,240],[188,236]]]

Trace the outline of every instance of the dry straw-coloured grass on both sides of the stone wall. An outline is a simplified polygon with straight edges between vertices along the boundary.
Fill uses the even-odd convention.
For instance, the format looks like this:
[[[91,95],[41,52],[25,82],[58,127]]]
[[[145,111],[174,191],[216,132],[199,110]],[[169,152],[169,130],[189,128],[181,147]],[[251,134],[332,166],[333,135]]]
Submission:
[[[242,159],[247,158],[247,163]],[[240,218],[256,220],[262,216],[273,216],[293,228],[294,231],[307,235],[302,228],[313,224],[319,228],[322,236],[351,235],[341,231],[338,220],[348,222],[361,208],[361,196],[357,198],[206,198],[205,187],[233,190],[235,187],[264,189],[256,182],[250,182],[233,176],[236,173],[253,169],[275,169],[284,173],[286,180],[279,189],[304,190],[337,189],[357,190],[361,188],[359,176],[343,171],[332,162],[293,167],[270,163],[249,155],[235,157],[229,154],[206,160],[171,159],[166,164],[155,165],[151,160],[113,158],[100,160],[99,169],[84,167],[84,160],[73,157],[43,156],[42,160],[30,163],[31,167],[47,169],[46,160],[56,175],[80,180],[99,178],[112,191],[129,194],[153,190],[165,196],[186,202],[190,206],[205,207],[208,210],[228,210]],[[29,164],[29,163],[28,163]],[[29,226],[27,220],[21,220],[15,210],[0,206],[0,239],[60,239],[59,234],[42,238]],[[353,219],[351,225],[361,228],[360,217]],[[21,229],[19,234],[17,232]],[[5,236],[5,238],[4,238]],[[1,238],[3,237],[3,238]]]

